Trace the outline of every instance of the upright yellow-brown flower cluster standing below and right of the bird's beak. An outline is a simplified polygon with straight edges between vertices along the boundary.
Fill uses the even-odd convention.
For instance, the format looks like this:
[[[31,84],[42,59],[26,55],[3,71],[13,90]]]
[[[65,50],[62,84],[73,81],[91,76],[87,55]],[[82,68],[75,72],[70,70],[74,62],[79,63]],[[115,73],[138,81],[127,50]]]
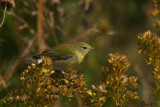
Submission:
[[[103,86],[106,87],[107,97],[110,97],[115,102],[117,107],[124,107],[128,101],[138,99],[137,92],[132,92],[127,89],[137,89],[137,77],[127,77],[125,74],[130,63],[126,56],[119,54],[110,54],[106,66],[102,67],[102,72],[106,76]]]

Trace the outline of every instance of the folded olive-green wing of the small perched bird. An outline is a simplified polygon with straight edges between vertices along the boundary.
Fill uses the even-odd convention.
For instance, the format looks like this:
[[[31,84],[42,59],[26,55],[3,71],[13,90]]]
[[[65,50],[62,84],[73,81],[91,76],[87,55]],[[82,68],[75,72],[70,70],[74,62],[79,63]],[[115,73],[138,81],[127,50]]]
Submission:
[[[42,53],[44,56],[48,56],[53,60],[65,60],[75,55],[74,50],[71,49],[70,45],[59,45],[52,50],[46,50]]]

